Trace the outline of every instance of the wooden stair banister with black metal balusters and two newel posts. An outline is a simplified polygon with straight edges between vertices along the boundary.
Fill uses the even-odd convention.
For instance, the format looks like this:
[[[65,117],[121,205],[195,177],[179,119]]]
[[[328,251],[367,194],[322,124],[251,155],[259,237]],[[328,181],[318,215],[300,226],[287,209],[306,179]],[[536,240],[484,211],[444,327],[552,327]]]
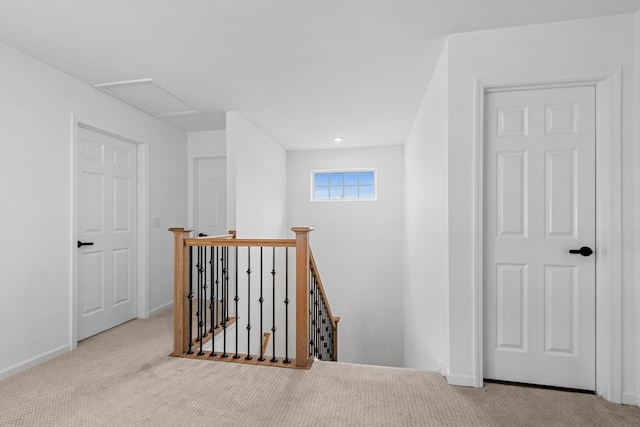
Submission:
[[[250,364],[262,364],[263,366],[272,365],[272,366],[280,366],[280,367],[292,367],[298,369],[309,369],[315,360],[315,357],[318,357],[322,360],[337,360],[337,323],[339,321],[339,317],[334,317],[331,313],[331,308],[329,307],[328,300],[326,294],[324,292],[324,287],[322,286],[322,282],[320,280],[320,276],[318,273],[317,266],[313,259],[313,254],[311,252],[311,248],[309,246],[309,232],[313,231],[312,227],[293,227],[291,230],[295,233],[295,239],[237,239],[235,231],[230,231],[229,234],[224,236],[202,236],[198,238],[190,237],[192,230],[184,229],[184,228],[171,228],[169,229],[174,234],[174,342],[173,342],[173,356],[176,357],[188,357],[188,358],[200,358],[200,359],[208,359],[208,360],[220,360],[220,361],[234,361],[236,363],[250,363]],[[210,247],[209,250],[206,248]],[[221,325],[223,327],[222,330],[218,330],[214,332],[215,329],[218,329],[219,319],[218,316],[214,315],[215,308],[217,304],[221,303],[222,306],[220,309],[225,309],[225,302],[231,298],[231,295],[228,293],[225,295],[225,290],[223,288],[224,285],[222,283],[227,283],[229,280],[229,276],[227,275],[229,270],[225,270],[227,267],[227,263],[229,262],[229,254],[226,251],[222,251],[220,254],[216,251],[216,256],[214,257],[214,248],[220,249],[228,249],[235,248],[235,258],[233,258],[233,263],[235,264],[235,272],[232,273],[233,279],[237,282],[238,280],[238,248],[243,247],[246,248],[247,254],[247,271],[246,271],[246,285],[247,285],[247,295],[250,295],[250,276],[251,274],[251,249],[255,247],[259,247],[260,249],[260,274],[263,274],[262,271],[262,248],[271,248],[273,250],[273,268],[272,275],[275,278],[276,270],[275,270],[275,254],[276,248],[282,248],[284,252],[280,252],[287,255],[287,248],[295,248],[295,359],[290,360],[287,356],[287,351],[289,349],[288,345],[285,345],[285,358],[278,360],[276,357],[276,346],[275,346],[275,328],[276,324],[273,324],[272,334],[264,333],[262,330],[262,326],[260,327],[261,332],[264,333],[264,337],[261,344],[261,355],[265,352],[265,347],[268,344],[269,338],[271,338],[273,342],[273,358],[268,359],[269,362],[265,362],[264,357],[254,358],[249,357],[250,355],[250,333],[251,333],[251,325],[249,322],[250,313],[249,313],[249,302],[247,303],[247,317],[246,323],[247,330],[247,357],[240,358],[234,357],[230,359],[226,359],[224,353],[223,346],[223,354],[216,354],[214,350],[215,339],[214,336],[222,332],[223,342],[226,342],[226,326],[228,324],[235,324],[239,319],[239,311],[238,311],[238,301],[242,298],[238,298],[238,288],[236,287],[234,293],[234,301],[236,304],[235,312],[232,316],[227,317],[224,320],[224,323]],[[192,253],[195,256],[194,251],[197,250],[198,256],[197,260],[192,259]],[[209,251],[209,252],[208,252]],[[201,258],[202,257],[202,258]],[[288,259],[288,258],[287,258]],[[208,260],[208,261],[207,261]],[[208,266],[207,263],[209,264]],[[206,267],[203,267],[205,265]],[[207,281],[207,269],[210,269],[210,282]],[[217,269],[217,270],[216,270]],[[222,269],[222,270],[220,270]],[[216,271],[216,279],[215,285],[216,290],[214,294],[213,285],[214,285],[214,270]],[[288,268],[285,266],[284,269],[284,277],[280,278],[280,286],[284,285],[284,289],[287,289],[287,278],[288,276]],[[224,276],[218,276],[218,273],[221,273]],[[278,275],[280,273],[278,272]],[[197,279],[196,277],[197,276]],[[218,277],[220,277],[220,282],[218,282]],[[278,276],[280,277],[280,276]],[[284,280],[284,281],[283,281]],[[195,285],[194,283],[197,282]],[[207,283],[209,283],[209,287],[207,287]],[[218,283],[220,283],[221,289],[218,290]],[[262,286],[262,281],[260,281]],[[313,285],[313,290],[311,286]],[[276,281],[273,281],[274,286],[274,294],[272,298],[272,302],[275,304],[275,286]],[[209,291],[207,289],[210,289]],[[261,288],[262,289],[262,288]],[[282,289],[282,288],[280,288]],[[220,298],[220,293],[222,292],[222,298]],[[195,293],[195,294],[194,294]],[[285,311],[285,340],[288,335],[286,332],[288,330],[288,305],[289,305],[289,294],[285,292],[284,301],[284,311]],[[316,295],[316,302],[314,303],[316,306],[312,307],[310,304],[311,296]],[[318,303],[317,298],[321,298],[320,304]],[[262,292],[260,293],[260,304],[262,304]],[[194,306],[196,304],[197,306]],[[208,304],[208,307],[206,306]],[[262,306],[261,306],[262,307]],[[275,310],[275,305],[273,306]],[[228,306],[227,306],[228,309]],[[211,311],[211,317],[207,318],[207,310]],[[275,311],[274,311],[275,313]],[[229,316],[228,312],[226,316]],[[262,319],[262,310],[260,311],[260,316]],[[275,314],[274,314],[275,316]],[[310,318],[310,316],[314,316],[315,318]],[[320,316],[320,317],[318,317]],[[214,321],[215,317],[215,321]],[[275,317],[273,318],[275,322]],[[329,326],[322,326],[322,330],[320,329],[320,325],[318,323],[318,319],[321,320],[324,325],[325,321],[328,320],[330,323]],[[208,323],[210,323],[208,325]],[[261,323],[262,324],[262,323]],[[310,328],[313,326],[315,338],[312,338]],[[237,328],[237,326],[236,326]],[[194,331],[197,331],[197,334],[194,334]],[[239,330],[236,329],[236,347],[235,353],[238,354],[238,338]],[[322,335],[322,336],[320,336]],[[326,340],[329,340],[329,346],[327,346]],[[211,352],[205,356],[205,352],[203,352],[203,345],[211,340]],[[226,344],[225,344],[226,345]],[[194,346],[199,347],[199,351],[196,353],[192,351]],[[319,348],[319,346],[321,346]],[[207,350],[208,351],[208,350]],[[293,362],[293,363],[291,363]]]

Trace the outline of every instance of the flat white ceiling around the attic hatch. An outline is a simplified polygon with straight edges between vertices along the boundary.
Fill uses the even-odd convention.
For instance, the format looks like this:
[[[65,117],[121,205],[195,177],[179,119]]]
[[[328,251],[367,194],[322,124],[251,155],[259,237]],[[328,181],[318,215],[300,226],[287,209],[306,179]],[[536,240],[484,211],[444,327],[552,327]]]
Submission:
[[[0,0],[0,41],[91,85],[153,79],[289,150],[402,144],[447,34],[635,12],[640,0]]]

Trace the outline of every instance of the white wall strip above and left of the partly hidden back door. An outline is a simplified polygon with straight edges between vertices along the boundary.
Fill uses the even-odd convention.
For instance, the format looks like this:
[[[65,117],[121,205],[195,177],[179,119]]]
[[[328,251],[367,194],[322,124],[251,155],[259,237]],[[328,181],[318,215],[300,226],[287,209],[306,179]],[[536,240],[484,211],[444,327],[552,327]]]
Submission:
[[[227,155],[227,132],[210,130],[187,132],[187,228],[195,227],[195,161],[204,157]]]

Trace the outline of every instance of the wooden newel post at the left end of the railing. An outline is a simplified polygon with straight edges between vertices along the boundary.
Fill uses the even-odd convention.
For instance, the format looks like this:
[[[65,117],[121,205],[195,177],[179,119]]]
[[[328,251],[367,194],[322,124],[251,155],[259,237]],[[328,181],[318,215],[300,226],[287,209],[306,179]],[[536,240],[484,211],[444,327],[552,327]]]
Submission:
[[[189,248],[184,245],[191,230],[170,228],[173,233],[173,356],[189,349]]]

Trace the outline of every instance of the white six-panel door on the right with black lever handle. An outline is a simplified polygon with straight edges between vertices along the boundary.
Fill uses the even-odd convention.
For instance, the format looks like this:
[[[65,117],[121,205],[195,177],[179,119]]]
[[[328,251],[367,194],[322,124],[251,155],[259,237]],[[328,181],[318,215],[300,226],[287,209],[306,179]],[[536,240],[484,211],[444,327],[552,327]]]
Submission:
[[[595,390],[595,88],[487,94],[484,164],[484,376]]]

